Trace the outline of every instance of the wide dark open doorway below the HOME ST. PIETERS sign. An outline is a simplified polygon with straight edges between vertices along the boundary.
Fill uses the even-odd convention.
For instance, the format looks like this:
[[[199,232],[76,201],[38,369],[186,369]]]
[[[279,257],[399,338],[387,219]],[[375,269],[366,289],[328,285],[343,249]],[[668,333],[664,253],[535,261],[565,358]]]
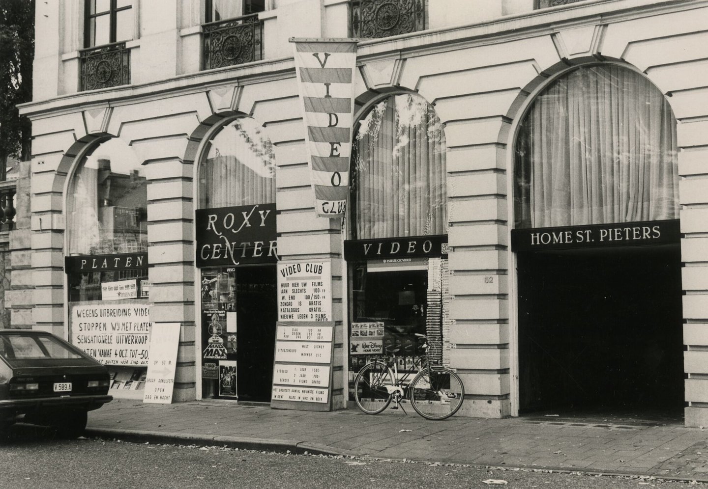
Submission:
[[[683,408],[678,245],[517,257],[520,413]]]

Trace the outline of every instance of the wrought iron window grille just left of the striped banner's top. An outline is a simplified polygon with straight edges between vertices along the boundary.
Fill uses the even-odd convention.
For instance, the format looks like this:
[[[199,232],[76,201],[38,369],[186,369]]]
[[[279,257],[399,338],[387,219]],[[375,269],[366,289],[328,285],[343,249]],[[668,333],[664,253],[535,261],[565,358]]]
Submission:
[[[202,25],[204,69],[263,59],[263,21],[258,13]]]

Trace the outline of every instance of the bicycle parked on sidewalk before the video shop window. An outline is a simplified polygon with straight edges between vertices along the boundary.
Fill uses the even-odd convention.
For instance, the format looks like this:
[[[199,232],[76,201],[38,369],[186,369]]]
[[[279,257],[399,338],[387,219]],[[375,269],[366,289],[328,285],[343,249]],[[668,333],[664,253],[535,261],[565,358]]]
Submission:
[[[411,372],[399,377],[396,353],[400,348],[389,350],[390,356],[376,358],[359,370],[354,380],[354,400],[358,408],[367,414],[384,411],[391,401],[396,401],[392,409],[401,408],[408,391],[408,399],[416,413],[429,420],[450,418],[459,411],[464,401],[464,385],[459,376],[449,368],[433,365],[430,361],[430,344],[424,334],[415,334],[423,339],[425,355],[415,358],[413,370],[418,373],[410,383],[406,383]]]

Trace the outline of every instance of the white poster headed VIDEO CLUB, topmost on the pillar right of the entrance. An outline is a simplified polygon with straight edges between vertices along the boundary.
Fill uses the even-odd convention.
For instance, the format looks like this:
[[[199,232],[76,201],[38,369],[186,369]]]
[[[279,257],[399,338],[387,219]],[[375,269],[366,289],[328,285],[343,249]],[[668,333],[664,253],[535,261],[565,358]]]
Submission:
[[[278,321],[331,321],[329,261],[278,264]]]

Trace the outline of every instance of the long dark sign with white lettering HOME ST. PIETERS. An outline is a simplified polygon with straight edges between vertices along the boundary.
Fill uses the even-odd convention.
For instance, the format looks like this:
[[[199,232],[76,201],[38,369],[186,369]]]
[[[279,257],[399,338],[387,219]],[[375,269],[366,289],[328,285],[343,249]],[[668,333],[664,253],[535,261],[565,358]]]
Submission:
[[[511,230],[511,250],[666,245],[681,239],[679,221],[593,224]]]

